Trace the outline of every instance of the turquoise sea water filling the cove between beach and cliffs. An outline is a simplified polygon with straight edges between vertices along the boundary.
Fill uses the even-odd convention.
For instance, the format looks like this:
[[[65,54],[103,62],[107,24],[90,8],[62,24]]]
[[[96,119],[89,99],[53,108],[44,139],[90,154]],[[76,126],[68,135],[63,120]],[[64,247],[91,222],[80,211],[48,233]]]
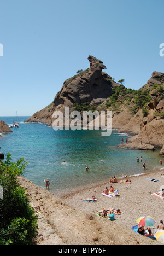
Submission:
[[[65,188],[70,192],[84,185],[109,181],[112,176],[138,175],[160,169],[160,149],[154,152],[126,150],[115,146],[126,134],[113,130],[109,137],[102,137],[101,131],[54,131],[40,123],[24,123],[27,117],[19,117],[18,129],[12,129],[0,138],[1,152],[10,152],[13,161],[24,157],[28,167],[24,174],[40,187],[49,178],[52,192],[60,194]],[[8,125],[14,117],[0,117]],[[147,168],[137,163],[137,156],[143,156]],[[104,162],[101,162],[103,160]],[[62,164],[65,161],[66,164]],[[89,172],[85,171],[86,166]]]

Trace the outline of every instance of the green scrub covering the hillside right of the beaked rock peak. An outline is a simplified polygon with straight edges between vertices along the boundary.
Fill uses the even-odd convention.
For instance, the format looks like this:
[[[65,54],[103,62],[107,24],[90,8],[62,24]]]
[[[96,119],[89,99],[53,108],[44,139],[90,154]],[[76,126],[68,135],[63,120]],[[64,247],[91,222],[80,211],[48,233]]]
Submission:
[[[147,117],[149,114],[146,106],[151,102],[152,96],[151,92],[153,91],[153,96],[155,101],[160,101],[164,97],[163,84],[158,85],[154,84],[150,89],[143,88],[139,90],[134,90],[131,88],[126,88],[123,84],[119,86],[116,85],[112,88],[112,96],[107,98],[101,106],[96,106],[90,102],[85,103],[74,103],[72,105],[73,110],[75,111],[89,111],[92,112],[95,110],[107,110],[110,108],[112,111],[121,111],[122,106],[128,107],[132,115],[136,114],[138,110],[142,109],[143,117]],[[155,113],[163,116],[161,113]]]

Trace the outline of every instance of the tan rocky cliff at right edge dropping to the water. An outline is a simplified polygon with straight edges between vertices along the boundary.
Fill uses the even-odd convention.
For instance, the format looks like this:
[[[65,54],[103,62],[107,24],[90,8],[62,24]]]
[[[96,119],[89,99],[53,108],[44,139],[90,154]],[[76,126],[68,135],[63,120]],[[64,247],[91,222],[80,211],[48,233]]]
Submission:
[[[139,107],[133,113],[131,112],[131,118],[126,117],[126,124],[118,127],[119,132],[128,132],[133,135],[128,139],[127,144],[119,144],[119,147],[151,150],[155,147],[162,148],[164,144],[164,73],[153,72],[147,84],[139,91],[142,91],[140,99],[142,99],[141,96],[146,95],[145,92],[147,93],[148,102],[142,108]],[[131,109],[134,109],[134,106],[133,104]],[[130,107],[126,111],[130,113],[129,110]],[[120,112],[118,116],[124,119],[125,114],[126,112]],[[115,126],[117,124],[114,122],[113,127]],[[163,149],[160,155],[164,155]]]

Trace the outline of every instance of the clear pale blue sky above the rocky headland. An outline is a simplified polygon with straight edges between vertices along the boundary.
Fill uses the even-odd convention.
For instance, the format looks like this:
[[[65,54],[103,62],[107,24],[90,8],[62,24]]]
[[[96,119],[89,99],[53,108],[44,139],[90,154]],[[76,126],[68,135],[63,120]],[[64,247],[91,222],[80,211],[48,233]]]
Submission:
[[[163,0],[1,0],[0,9],[0,116],[48,106],[89,55],[127,88],[164,72]]]

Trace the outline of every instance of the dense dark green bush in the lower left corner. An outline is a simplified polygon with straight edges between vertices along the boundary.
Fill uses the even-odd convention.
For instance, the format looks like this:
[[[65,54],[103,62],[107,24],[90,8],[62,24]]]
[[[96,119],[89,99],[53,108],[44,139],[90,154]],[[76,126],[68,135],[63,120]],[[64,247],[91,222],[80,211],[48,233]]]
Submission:
[[[26,166],[24,158],[12,162],[10,153],[0,163],[0,245],[33,245],[37,237],[37,216],[17,179]]]

